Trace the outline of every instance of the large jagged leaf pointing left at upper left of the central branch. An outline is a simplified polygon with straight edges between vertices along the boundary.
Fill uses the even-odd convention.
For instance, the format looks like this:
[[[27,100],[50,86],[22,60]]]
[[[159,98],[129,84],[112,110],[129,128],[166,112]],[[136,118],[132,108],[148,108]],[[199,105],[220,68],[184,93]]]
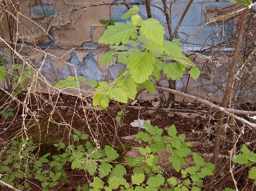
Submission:
[[[136,37],[136,33],[137,30],[130,21],[126,23],[115,22],[115,25],[108,26],[98,42],[106,45],[119,45],[121,42],[126,44],[129,38],[134,39]]]

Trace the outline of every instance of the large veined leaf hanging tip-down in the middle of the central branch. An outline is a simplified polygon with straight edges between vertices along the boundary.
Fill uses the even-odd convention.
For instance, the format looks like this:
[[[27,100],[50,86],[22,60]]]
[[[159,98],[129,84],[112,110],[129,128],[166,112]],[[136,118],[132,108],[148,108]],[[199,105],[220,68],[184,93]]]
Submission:
[[[127,67],[130,69],[132,78],[136,83],[143,83],[152,74],[156,59],[148,52],[135,52],[128,57]]]

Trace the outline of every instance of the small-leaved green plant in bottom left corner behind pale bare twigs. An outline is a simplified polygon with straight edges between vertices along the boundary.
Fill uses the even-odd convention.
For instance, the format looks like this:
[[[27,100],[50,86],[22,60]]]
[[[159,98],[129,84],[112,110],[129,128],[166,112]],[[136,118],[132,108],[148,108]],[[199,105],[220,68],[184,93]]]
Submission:
[[[15,178],[35,178],[42,182],[43,190],[47,191],[49,187],[54,187],[59,183],[58,179],[65,180],[65,171],[62,169],[56,173],[52,169],[43,169],[43,164],[49,162],[47,157],[50,153],[36,159],[36,156],[32,153],[36,147],[30,139],[31,137],[26,140],[13,140],[11,142],[12,146],[5,152],[5,161],[0,166],[0,173],[4,172],[1,180],[11,186],[29,191],[29,182],[25,181],[23,184],[14,185],[13,181]],[[3,153],[3,149],[1,153]],[[10,166],[12,167],[10,168]]]

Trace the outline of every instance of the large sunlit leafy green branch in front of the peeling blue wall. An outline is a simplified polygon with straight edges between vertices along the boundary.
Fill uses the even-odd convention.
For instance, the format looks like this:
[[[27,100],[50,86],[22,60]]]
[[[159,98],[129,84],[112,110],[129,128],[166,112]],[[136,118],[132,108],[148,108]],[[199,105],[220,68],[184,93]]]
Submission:
[[[99,64],[110,64],[116,56],[118,63],[124,64],[126,69],[121,70],[115,81],[109,83],[87,81],[96,90],[93,96],[94,106],[105,109],[110,98],[127,103],[128,98],[135,99],[139,88],[146,88],[154,93],[154,83],[160,80],[161,71],[173,80],[181,78],[187,67],[191,67],[189,73],[194,79],[200,75],[191,59],[181,52],[180,39],[164,40],[165,31],[160,22],[153,18],[142,20],[137,14],[138,10],[138,6],[134,5],[122,16],[122,19],[130,18],[131,21],[109,25],[98,41],[111,48],[102,56]],[[76,86],[77,82],[73,82]],[[58,83],[55,87],[71,87],[70,83],[71,81],[65,81],[62,86]]]

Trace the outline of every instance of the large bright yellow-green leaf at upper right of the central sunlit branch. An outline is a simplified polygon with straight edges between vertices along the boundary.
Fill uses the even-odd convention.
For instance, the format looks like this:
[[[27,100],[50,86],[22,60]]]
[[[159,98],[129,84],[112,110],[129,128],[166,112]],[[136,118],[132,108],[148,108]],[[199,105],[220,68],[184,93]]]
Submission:
[[[148,39],[151,39],[155,43],[162,45],[164,41],[164,27],[159,21],[153,18],[149,18],[146,21],[141,21],[141,33],[146,35]]]

